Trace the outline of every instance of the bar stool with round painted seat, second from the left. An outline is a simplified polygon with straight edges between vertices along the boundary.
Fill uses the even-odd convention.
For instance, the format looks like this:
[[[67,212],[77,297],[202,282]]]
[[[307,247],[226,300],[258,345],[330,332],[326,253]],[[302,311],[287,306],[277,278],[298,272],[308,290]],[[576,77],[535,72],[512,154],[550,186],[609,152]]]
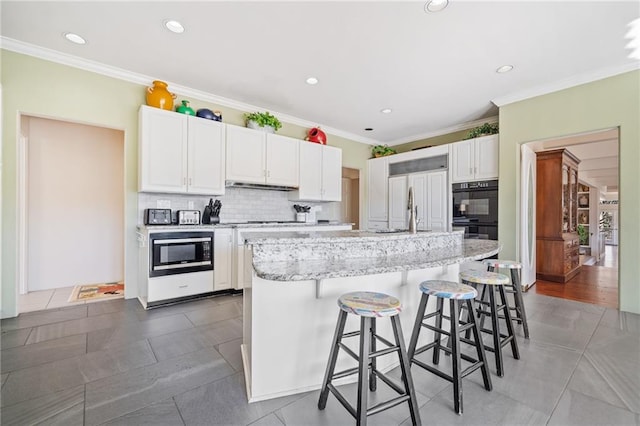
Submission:
[[[492,389],[491,375],[489,374],[489,368],[487,367],[487,358],[484,352],[484,346],[482,345],[480,329],[476,322],[476,318],[474,315],[469,315],[468,322],[461,322],[459,318],[459,301],[462,300],[463,302],[466,302],[469,312],[473,312],[472,302],[478,295],[478,292],[475,288],[468,285],[439,280],[425,281],[421,283],[420,291],[422,292],[422,298],[420,299],[420,306],[418,307],[418,313],[416,314],[413,333],[411,334],[411,340],[409,341],[409,360],[411,363],[453,383],[454,409],[456,413],[462,414],[462,379],[464,377],[473,373],[477,369],[481,369],[485,389],[488,391]],[[429,296],[437,297],[436,310],[435,312],[425,315]],[[449,316],[444,315],[444,299],[449,299]],[[424,323],[426,319],[431,317],[435,317],[435,326]],[[443,318],[449,320],[449,331],[442,328]],[[422,327],[435,332],[434,340],[425,346],[416,348]],[[467,330],[473,331],[473,340],[460,337],[460,333]],[[451,348],[441,344],[442,334],[449,336]],[[460,351],[460,342],[475,346],[477,359],[463,354]],[[440,351],[451,354],[451,375],[448,375],[415,358],[416,355],[429,349],[433,349],[433,363],[436,365],[440,360]],[[471,365],[462,370],[461,359],[470,362]]]

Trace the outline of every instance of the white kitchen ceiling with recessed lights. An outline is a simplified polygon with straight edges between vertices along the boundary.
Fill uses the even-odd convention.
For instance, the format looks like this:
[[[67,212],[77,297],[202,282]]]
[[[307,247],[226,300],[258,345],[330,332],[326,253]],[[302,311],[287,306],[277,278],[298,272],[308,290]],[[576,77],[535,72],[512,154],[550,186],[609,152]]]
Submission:
[[[41,46],[390,145],[495,120],[501,102],[638,68],[625,49],[637,1],[424,6],[3,0],[0,28],[3,46]],[[185,32],[169,32],[167,19]],[[505,64],[513,71],[498,74]],[[319,83],[306,84],[310,76]]]

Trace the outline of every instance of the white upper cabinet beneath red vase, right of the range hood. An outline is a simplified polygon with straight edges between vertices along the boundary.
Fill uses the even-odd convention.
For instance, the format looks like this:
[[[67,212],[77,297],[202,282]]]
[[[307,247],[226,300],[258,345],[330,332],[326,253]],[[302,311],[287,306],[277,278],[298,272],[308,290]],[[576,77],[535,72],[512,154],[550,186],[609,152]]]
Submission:
[[[289,197],[304,201],[342,200],[342,150],[300,143],[300,186]]]

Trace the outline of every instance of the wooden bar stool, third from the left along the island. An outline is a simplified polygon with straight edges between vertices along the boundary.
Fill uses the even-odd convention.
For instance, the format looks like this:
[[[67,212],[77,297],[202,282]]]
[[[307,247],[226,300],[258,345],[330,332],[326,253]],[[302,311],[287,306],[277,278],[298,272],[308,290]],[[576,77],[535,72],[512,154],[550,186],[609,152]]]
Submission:
[[[480,331],[482,331],[483,333],[490,333],[493,336],[493,346],[485,344],[484,348],[494,353],[496,357],[496,370],[498,373],[498,377],[502,377],[504,376],[502,347],[506,346],[507,343],[511,343],[511,352],[513,354],[513,357],[515,359],[520,359],[518,342],[516,341],[516,336],[513,332],[513,323],[511,322],[512,320],[509,309],[509,301],[507,300],[507,295],[504,290],[504,285],[509,283],[509,277],[503,274],[498,274],[496,272],[483,271],[460,272],[459,276],[463,284],[471,285],[473,287],[477,286],[478,284],[482,284],[485,287],[482,290],[482,297],[478,302],[481,308],[478,308],[477,314],[478,318],[481,318],[481,316],[491,317],[491,329],[484,328],[484,317],[482,317],[482,321],[480,323]],[[496,288],[498,289],[498,293],[500,295],[500,305],[498,305],[496,301]],[[488,293],[489,295],[488,301],[485,300],[485,293]],[[489,308],[489,310],[487,311],[485,308]],[[507,334],[503,334],[500,332],[499,311],[503,311],[507,326]],[[474,315],[469,315],[469,317],[472,316]]]

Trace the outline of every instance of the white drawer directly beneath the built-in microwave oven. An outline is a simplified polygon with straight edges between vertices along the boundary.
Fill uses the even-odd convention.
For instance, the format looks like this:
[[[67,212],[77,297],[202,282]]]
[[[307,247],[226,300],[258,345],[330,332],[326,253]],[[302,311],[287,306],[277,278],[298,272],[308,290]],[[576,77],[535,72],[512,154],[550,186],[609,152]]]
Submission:
[[[213,291],[213,271],[149,278],[149,302],[193,296]]]

